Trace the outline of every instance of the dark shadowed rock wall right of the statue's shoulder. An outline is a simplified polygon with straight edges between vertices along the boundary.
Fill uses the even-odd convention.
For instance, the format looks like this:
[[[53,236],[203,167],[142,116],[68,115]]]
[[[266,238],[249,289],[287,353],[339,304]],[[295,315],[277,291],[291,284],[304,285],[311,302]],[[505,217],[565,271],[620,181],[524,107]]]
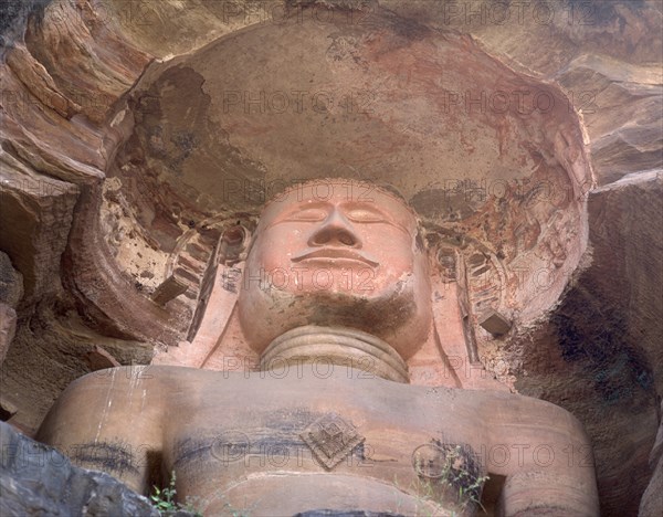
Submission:
[[[629,494],[651,475],[663,374],[662,179],[632,175],[590,192],[592,264],[552,313],[551,331],[535,339],[548,344],[545,355],[520,351],[518,391],[565,405],[592,436],[604,513],[620,505],[635,515],[639,499]]]

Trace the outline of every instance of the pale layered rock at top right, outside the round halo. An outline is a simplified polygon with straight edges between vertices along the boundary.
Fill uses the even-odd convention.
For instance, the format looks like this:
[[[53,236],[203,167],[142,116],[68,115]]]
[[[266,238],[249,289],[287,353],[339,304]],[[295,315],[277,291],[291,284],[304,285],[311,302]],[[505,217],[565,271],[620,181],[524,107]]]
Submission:
[[[427,3],[383,2],[559,84],[585,119],[599,184],[660,166],[661,2]]]

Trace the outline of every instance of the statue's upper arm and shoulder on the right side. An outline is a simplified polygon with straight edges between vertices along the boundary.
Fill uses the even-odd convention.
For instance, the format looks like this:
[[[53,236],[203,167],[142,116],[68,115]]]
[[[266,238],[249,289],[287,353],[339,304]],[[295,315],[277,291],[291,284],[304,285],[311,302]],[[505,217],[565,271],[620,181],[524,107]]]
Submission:
[[[491,420],[486,466],[505,476],[499,515],[599,515],[591,445],[576,418],[519,398],[495,405]]]

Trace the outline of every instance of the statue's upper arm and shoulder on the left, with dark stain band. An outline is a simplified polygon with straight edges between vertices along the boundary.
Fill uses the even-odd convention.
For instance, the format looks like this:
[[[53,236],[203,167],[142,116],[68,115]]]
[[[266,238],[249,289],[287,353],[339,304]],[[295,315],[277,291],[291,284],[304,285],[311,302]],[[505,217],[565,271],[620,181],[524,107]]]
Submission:
[[[36,439],[75,465],[106,472],[146,493],[161,455],[162,394],[149,368],[90,373],[61,394]]]

